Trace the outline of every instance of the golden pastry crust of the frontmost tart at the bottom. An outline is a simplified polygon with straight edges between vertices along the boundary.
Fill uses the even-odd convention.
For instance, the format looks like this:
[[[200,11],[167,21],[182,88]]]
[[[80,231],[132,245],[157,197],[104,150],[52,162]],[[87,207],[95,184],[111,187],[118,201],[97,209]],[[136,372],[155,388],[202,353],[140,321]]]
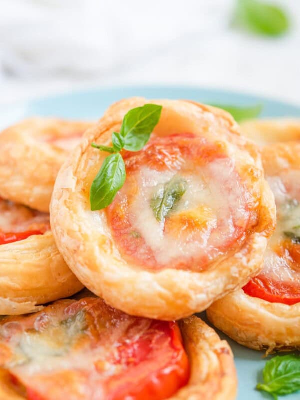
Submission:
[[[190,379],[168,400],[233,400],[237,378],[228,343],[200,318],[191,316],[179,321],[184,347],[190,362]],[[15,392],[5,370],[0,370],[0,398],[23,400]]]

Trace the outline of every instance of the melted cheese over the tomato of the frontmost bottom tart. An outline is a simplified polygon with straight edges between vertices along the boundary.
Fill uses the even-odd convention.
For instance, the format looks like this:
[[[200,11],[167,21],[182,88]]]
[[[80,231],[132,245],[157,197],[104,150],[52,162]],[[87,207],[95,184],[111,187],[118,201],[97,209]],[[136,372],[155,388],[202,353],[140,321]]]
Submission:
[[[103,309],[109,312],[106,305]],[[113,358],[115,355],[118,359],[118,346],[124,337],[128,342],[134,342],[151,325],[150,319],[121,314],[114,320],[114,314],[108,313],[108,317],[97,320],[99,331],[93,337],[94,330],[88,331],[90,316],[86,318],[84,310],[67,319],[63,311],[55,309],[52,314],[40,312],[33,324],[35,328],[26,328],[24,320],[22,323],[8,321],[0,324],[0,340],[5,339],[12,349],[12,356],[4,367],[27,379],[36,374],[73,369],[90,373],[91,380],[93,375],[96,379],[103,379],[123,367],[114,364]],[[95,364],[101,365],[100,376]]]

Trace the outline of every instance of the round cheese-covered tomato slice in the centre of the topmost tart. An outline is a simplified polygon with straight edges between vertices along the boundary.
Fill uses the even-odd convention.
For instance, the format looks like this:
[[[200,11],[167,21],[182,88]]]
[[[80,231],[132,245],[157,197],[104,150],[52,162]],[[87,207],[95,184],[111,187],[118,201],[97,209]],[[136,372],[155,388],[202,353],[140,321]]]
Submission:
[[[173,134],[154,137],[142,150],[124,152],[123,157],[126,182],[107,207],[106,213],[115,243],[128,262],[156,270],[205,270],[210,262],[232,251],[245,239],[246,229],[250,229],[247,189],[221,144],[209,143],[192,133]],[[150,206],[152,193],[159,186],[147,183],[151,182],[151,176],[156,176],[156,179],[158,176],[158,180],[162,177],[166,181],[170,179],[169,176],[179,176],[193,182],[188,183],[188,187],[193,189],[190,189],[192,194],[188,194],[186,200],[189,203],[194,200],[194,203],[187,211],[199,212],[172,221],[171,216],[167,216],[159,232],[153,233],[150,227],[152,236],[160,237],[160,243],[155,242],[153,237],[147,239],[145,232],[139,231],[140,225],[149,226],[149,221],[157,230],[161,226],[155,220]],[[195,203],[193,196],[196,198],[195,193],[201,190],[210,193],[207,194],[210,197],[203,195],[199,203]],[[211,201],[211,198],[215,201]],[[143,209],[138,208],[140,200],[145,201],[142,203]],[[214,207],[210,214],[207,211],[203,216],[199,211],[205,208],[201,208],[201,201]],[[210,204],[212,202],[214,205]],[[139,220],[141,212],[144,215],[142,221]],[[161,248],[169,248],[169,242],[176,249],[182,249],[182,252],[177,254],[173,252],[176,249],[169,249],[169,256],[165,256]]]

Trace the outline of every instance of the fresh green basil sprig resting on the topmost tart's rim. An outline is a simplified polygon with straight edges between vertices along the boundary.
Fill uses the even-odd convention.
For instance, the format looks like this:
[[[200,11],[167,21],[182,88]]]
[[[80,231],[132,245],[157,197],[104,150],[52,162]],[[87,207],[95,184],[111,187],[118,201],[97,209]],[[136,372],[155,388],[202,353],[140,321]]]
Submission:
[[[112,133],[112,147],[92,143],[92,147],[111,153],[105,158],[90,188],[90,208],[103,209],[112,203],[126,179],[126,168],[120,151],[139,151],[148,142],[157,125],[162,106],[145,104],[133,108],[124,116],[120,132]]]

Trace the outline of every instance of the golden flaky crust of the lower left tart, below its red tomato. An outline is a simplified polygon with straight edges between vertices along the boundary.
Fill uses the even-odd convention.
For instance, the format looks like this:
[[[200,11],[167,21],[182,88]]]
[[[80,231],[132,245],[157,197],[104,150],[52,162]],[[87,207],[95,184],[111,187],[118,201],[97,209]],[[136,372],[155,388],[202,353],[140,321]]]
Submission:
[[[0,245],[0,315],[38,311],[36,304],[70,296],[82,287],[51,231]]]

